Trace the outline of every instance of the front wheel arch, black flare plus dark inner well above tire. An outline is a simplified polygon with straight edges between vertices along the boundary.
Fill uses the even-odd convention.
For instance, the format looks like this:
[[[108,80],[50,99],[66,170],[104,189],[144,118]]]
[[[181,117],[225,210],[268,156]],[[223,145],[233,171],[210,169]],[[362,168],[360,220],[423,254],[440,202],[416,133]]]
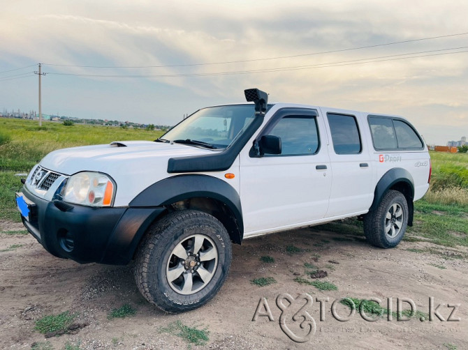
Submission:
[[[165,178],[140,192],[130,206],[204,211],[221,221],[233,243],[242,242],[244,225],[239,194],[231,185],[214,176],[182,174]]]

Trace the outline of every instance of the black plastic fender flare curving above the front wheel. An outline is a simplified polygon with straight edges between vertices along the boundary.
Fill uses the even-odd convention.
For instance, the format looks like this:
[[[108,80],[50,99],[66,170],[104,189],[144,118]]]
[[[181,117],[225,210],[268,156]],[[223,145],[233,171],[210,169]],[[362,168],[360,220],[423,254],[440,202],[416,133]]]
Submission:
[[[235,219],[234,228],[228,228],[230,235],[237,231],[238,237],[232,237],[240,243],[244,234],[242,206],[240,196],[233,186],[219,178],[202,174],[182,174],[164,178],[142,190],[129,204],[131,207],[167,206],[176,201],[194,197],[215,199],[223,203]]]

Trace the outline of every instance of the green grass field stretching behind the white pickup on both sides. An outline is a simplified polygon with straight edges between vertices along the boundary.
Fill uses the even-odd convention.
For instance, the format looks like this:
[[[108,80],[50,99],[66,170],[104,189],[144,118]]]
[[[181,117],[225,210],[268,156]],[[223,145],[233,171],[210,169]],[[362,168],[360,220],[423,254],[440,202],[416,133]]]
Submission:
[[[36,121],[0,119],[0,218],[20,220],[15,191],[22,185],[21,176],[15,174],[29,172],[50,151],[117,140],[154,140],[161,134],[52,122],[45,122],[39,128]],[[441,245],[468,245],[468,154],[431,152],[430,155],[431,188],[424,199],[416,201],[416,225],[409,230],[408,238],[414,234]],[[337,225],[331,225],[339,231]]]

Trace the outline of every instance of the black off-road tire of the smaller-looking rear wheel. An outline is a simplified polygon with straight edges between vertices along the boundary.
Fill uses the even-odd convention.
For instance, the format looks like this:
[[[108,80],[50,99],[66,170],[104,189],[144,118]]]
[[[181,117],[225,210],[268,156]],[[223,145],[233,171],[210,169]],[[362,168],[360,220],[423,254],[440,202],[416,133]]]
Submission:
[[[393,215],[394,207],[397,208],[397,210],[398,208],[402,210],[401,227],[399,229],[397,225],[399,225],[400,222],[395,220],[397,218]],[[388,218],[388,216],[390,218]],[[397,246],[398,243],[402,241],[404,232],[407,229],[408,217],[408,203],[402,192],[388,190],[386,195],[381,199],[379,206],[364,216],[364,234],[367,241],[379,248],[393,248]],[[396,225],[392,223],[391,220],[397,221]],[[393,229],[395,229],[395,231],[393,231],[395,232],[395,236],[393,237],[391,234],[387,233],[388,227],[390,227],[390,232],[392,232],[392,226]]]

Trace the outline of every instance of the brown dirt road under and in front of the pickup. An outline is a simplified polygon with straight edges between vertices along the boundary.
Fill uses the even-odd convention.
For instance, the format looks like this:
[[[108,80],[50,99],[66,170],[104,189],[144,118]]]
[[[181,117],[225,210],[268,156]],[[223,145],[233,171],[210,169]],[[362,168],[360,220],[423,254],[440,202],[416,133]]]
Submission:
[[[32,236],[12,234],[22,225],[0,222],[0,348],[30,349],[36,343],[53,349],[80,344],[80,349],[468,349],[468,251],[424,242],[403,241],[397,248],[373,248],[363,236],[337,234],[320,228],[281,232],[246,240],[233,247],[231,273],[219,294],[205,307],[185,314],[163,314],[140,296],[133,282],[132,266],[80,265],[57,259],[45,252]],[[7,233],[8,232],[8,233]],[[266,263],[268,256],[275,262]],[[305,266],[305,263],[306,266]],[[326,271],[327,276],[312,279],[307,266]],[[251,280],[273,277],[276,283],[258,287]],[[337,290],[320,290],[308,283],[330,282]],[[296,339],[293,342],[280,328],[279,294],[308,294],[313,303],[302,308],[315,333],[295,312],[305,305],[305,297],[285,302],[284,325]],[[252,321],[265,298],[260,315]],[[397,311],[397,298],[414,301],[418,314],[409,321],[386,315],[365,321],[359,312],[346,319],[350,310],[335,303],[344,297],[379,298],[381,306]],[[434,312],[429,318],[429,299]],[[288,298],[286,296],[286,298]],[[325,300],[328,302],[319,300]],[[280,300],[280,301],[281,301]],[[136,314],[124,319],[108,319],[112,308],[128,303]],[[268,314],[271,318],[261,316]],[[444,304],[439,306],[437,305]],[[448,307],[447,304],[451,305]],[[456,306],[458,305],[458,306]],[[321,321],[321,306],[323,321]],[[409,303],[402,303],[403,309]],[[86,326],[75,334],[45,339],[34,330],[35,322],[49,314],[78,313]],[[307,314],[305,314],[307,312]],[[366,314],[365,314],[366,315]],[[310,321],[310,318],[314,321]],[[175,321],[209,331],[203,346],[189,345],[177,332],[162,331]]]

